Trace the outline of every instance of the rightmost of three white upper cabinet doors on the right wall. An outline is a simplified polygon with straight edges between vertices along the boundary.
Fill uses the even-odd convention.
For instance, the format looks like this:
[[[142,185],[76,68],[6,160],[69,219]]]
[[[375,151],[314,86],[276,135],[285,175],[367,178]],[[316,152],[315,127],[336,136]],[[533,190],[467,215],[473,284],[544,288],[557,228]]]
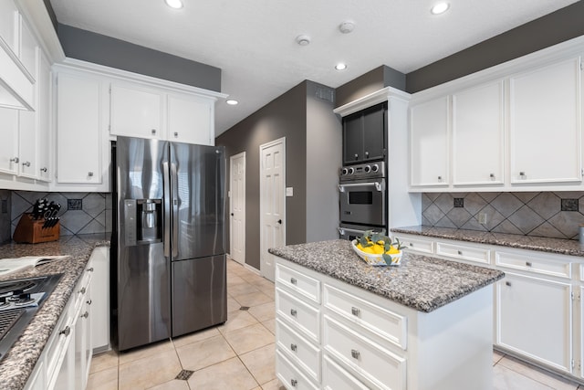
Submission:
[[[510,78],[512,184],[581,181],[579,62]]]

